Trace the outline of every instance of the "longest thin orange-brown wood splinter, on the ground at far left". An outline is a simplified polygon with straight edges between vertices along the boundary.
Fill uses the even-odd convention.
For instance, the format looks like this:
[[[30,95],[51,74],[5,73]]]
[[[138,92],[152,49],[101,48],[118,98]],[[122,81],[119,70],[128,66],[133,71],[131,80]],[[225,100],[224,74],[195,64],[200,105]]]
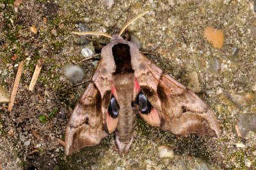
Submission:
[[[18,71],[17,71],[17,74],[16,74],[14,84],[13,84],[12,95],[11,95],[11,98],[10,98],[10,102],[8,104],[8,111],[12,111],[12,108],[13,108],[14,100],[15,100],[15,97],[16,97],[16,94],[17,94],[19,83],[20,83],[20,77],[21,77],[23,65],[24,65],[24,61],[21,61],[20,64],[19,64],[19,67],[18,67]]]

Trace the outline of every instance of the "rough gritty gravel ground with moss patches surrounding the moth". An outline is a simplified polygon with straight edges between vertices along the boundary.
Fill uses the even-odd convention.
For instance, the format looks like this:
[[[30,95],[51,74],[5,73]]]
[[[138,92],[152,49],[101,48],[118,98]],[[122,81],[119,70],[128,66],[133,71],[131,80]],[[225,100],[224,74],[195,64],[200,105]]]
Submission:
[[[58,139],[65,139],[70,108],[87,84],[68,81],[63,67],[84,59],[83,48],[99,53],[99,45],[109,41],[92,37],[93,43],[70,32],[113,34],[147,10],[129,32],[142,52],[154,54],[147,57],[157,66],[184,85],[197,87],[197,94],[216,113],[220,138],[175,136],[138,117],[127,157],[120,157],[113,134],[100,145],[66,157]],[[255,11],[255,2],[244,0],[0,0],[0,83],[8,94],[17,64],[25,60],[13,110],[0,105],[2,169],[256,169]],[[224,32],[221,48],[204,38],[206,26]],[[42,70],[31,92],[38,61]],[[97,62],[79,64],[83,81],[90,80]],[[173,157],[160,158],[161,145],[170,146]]]

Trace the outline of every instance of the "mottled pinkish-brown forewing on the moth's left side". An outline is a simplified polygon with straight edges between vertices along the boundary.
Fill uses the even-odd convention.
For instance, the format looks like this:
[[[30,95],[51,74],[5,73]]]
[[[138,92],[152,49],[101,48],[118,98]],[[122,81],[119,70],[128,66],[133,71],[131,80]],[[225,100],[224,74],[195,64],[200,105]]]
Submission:
[[[111,97],[110,80],[102,78],[104,67],[100,61],[88,87],[79,99],[70,117],[65,134],[65,150],[69,155],[84,146],[93,146],[108,136],[106,114]],[[105,71],[106,72],[106,71]],[[111,78],[111,76],[109,76]],[[102,79],[102,80],[100,80]],[[100,85],[103,85],[104,94],[100,94]]]

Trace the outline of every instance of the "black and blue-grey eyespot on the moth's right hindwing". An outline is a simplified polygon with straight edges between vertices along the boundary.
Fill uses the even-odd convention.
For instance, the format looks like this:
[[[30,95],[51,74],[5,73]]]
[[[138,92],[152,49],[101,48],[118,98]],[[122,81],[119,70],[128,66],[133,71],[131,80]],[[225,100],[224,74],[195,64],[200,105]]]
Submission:
[[[139,111],[143,114],[149,114],[153,108],[152,104],[142,92],[138,94],[134,104],[138,105]]]

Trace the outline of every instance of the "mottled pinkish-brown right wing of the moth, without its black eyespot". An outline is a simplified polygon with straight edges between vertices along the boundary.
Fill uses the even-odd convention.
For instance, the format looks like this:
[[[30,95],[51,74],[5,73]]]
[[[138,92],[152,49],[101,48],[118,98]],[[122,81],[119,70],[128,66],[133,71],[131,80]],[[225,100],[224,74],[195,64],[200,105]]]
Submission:
[[[146,122],[173,134],[220,135],[218,121],[204,101],[171,76],[164,74],[142,54],[138,60],[140,64],[136,67],[134,76],[153,106],[148,115],[140,113]],[[159,117],[156,122],[160,120],[159,124],[152,120],[152,115],[156,117],[156,112]]]

